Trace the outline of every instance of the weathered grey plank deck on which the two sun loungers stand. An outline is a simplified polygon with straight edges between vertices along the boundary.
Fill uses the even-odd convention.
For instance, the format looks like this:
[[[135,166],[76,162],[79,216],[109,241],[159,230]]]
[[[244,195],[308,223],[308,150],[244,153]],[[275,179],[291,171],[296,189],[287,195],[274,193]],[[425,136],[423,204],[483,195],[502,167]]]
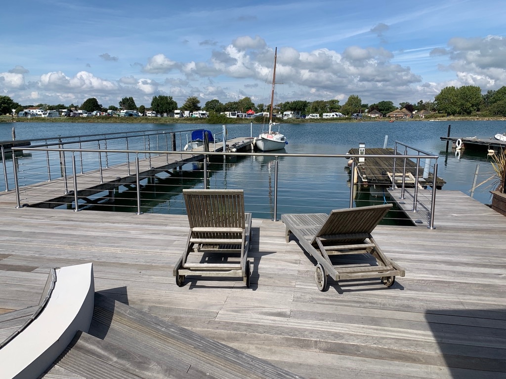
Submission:
[[[0,313],[36,306],[51,267],[93,262],[100,294],[304,377],[503,378],[506,217],[460,192],[436,202],[434,230],[373,231],[406,270],[394,286],[330,281],[324,293],[280,221],[253,219],[249,289],[191,277],[179,288],[186,216],[0,205]],[[83,377],[64,363],[45,379]]]

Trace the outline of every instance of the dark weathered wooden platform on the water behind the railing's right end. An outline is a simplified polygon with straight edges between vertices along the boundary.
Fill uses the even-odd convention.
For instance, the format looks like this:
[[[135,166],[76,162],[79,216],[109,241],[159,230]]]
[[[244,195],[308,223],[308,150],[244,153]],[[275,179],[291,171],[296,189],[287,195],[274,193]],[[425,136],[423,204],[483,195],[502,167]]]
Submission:
[[[359,149],[350,149],[349,154],[359,154]],[[360,157],[354,157],[356,178],[361,185],[392,185],[394,179],[394,150],[382,148],[368,148],[365,149],[365,154],[368,155],[383,155],[382,158],[365,158],[364,162],[360,162]],[[399,155],[399,153],[398,153]],[[421,157],[421,156],[420,156]],[[402,184],[404,172],[404,159],[395,159],[395,182],[397,185]],[[404,179],[405,185],[414,185],[415,176],[418,175],[418,183],[420,186],[428,186],[434,183],[434,176],[430,173],[424,178],[424,167],[418,167],[416,170],[416,163],[410,159],[406,159],[406,175]],[[441,188],[446,182],[438,177],[436,181],[437,188]]]

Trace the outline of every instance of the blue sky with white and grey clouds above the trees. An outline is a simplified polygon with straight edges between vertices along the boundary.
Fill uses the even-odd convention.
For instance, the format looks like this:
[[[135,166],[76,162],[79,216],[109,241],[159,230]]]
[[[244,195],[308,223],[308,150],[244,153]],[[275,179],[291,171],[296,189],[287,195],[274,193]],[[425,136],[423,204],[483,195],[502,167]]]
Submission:
[[[104,107],[434,101],[506,85],[505,0],[27,0],[0,10],[0,95]]]

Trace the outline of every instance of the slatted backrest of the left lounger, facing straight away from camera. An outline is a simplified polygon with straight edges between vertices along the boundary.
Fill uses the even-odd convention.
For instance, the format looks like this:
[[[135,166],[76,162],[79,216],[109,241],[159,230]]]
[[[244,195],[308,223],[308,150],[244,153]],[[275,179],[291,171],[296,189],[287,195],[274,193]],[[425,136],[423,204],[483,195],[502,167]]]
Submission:
[[[190,227],[244,229],[242,189],[183,189]]]

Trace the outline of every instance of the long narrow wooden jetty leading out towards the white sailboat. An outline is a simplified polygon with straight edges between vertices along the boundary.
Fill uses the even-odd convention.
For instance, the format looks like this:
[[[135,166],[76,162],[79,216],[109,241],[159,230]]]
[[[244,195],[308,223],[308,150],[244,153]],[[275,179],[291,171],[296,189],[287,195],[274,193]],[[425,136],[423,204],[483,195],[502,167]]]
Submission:
[[[223,151],[223,144],[216,145],[216,152]],[[251,139],[238,137],[227,140],[227,151],[250,151]],[[139,160],[139,178],[145,179],[154,177],[162,172],[177,169],[185,164],[201,162],[204,155],[199,154],[203,147],[192,150],[194,155],[183,154],[153,154],[149,158]],[[125,162],[110,167],[102,168],[76,175],[77,197],[79,200],[89,201],[88,197],[103,191],[113,191],[121,185],[128,185],[137,182],[135,162]],[[15,192],[10,192],[10,197],[0,198],[0,202],[11,202]],[[55,208],[62,204],[71,204],[75,199],[73,192],[73,176],[67,177],[67,188],[64,178],[40,182],[20,187],[21,206]]]

